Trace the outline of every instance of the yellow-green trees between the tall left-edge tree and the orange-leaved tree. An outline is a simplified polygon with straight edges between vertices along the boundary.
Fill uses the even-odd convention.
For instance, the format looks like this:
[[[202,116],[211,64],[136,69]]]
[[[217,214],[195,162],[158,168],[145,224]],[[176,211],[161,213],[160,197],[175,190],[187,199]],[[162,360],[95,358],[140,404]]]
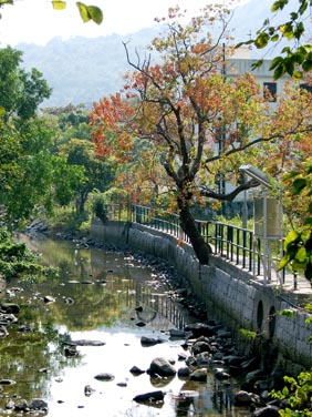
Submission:
[[[63,108],[46,108],[43,113],[55,123],[56,202],[62,206],[73,203],[82,213],[90,193],[94,190],[104,192],[110,187],[116,166],[95,155],[90,115],[84,105],[70,103]]]

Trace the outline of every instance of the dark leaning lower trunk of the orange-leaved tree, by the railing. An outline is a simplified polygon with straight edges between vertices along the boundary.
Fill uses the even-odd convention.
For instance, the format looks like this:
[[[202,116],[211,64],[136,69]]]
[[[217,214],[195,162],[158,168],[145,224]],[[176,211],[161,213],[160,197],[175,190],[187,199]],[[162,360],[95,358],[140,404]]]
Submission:
[[[200,231],[197,227],[197,224],[190,211],[189,201],[183,197],[178,197],[178,207],[181,228],[189,237],[199,263],[201,265],[208,265],[209,254],[211,254],[212,251],[210,245],[205,242],[204,237],[200,234]]]

